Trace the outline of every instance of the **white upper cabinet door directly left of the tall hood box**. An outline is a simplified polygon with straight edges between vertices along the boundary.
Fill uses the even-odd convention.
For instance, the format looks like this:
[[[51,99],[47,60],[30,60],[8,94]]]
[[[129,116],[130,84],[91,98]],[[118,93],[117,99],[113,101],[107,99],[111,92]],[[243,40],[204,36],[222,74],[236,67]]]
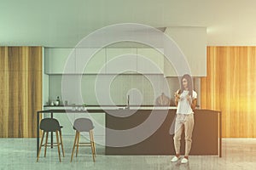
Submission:
[[[154,48],[137,48],[137,71],[143,74],[163,74],[164,55]]]

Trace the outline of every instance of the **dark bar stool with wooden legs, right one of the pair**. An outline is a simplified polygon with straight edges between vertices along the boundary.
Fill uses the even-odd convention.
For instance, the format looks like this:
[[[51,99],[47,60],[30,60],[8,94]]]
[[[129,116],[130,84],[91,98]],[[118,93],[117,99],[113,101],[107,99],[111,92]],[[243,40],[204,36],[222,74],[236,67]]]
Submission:
[[[94,128],[93,123],[88,118],[79,118],[75,120],[75,122],[73,123],[73,129],[76,130],[76,136],[73,143],[73,150],[72,150],[72,156],[70,161],[73,160],[73,152],[76,146],[77,146],[76,157],[78,156],[78,153],[79,153],[79,146],[90,146],[92,158],[93,158],[93,161],[95,161],[96,146],[93,138],[93,128]],[[80,133],[82,132],[89,133],[90,143],[79,143]]]

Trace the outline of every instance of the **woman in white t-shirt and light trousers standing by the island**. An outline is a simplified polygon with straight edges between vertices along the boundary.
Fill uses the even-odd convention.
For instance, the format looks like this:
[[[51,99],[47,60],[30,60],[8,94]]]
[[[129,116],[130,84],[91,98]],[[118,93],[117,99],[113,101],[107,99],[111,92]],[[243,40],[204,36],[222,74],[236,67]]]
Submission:
[[[186,74],[181,79],[181,89],[175,93],[175,105],[177,105],[177,116],[175,121],[175,134],[173,137],[176,156],[172,162],[180,158],[180,139],[181,134],[185,132],[185,156],[181,163],[189,161],[189,151],[192,143],[192,132],[194,127],[194,110],[197,94],[193,90],[192,78]]]

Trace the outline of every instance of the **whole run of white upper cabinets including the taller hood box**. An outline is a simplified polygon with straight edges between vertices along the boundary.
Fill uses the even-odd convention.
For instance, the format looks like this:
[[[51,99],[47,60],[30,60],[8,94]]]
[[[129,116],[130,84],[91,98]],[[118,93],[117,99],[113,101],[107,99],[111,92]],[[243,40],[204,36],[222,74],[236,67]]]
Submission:
[[[168,27],[175,47],[44,48],[46,74],[164,74],[207,76],[207,38],[203,27]],[[170,38],[171,39],[171,38]],[[167,56],[170,55],[170,56]],[[172,59],[169,59],[172,58]],[[188,65],[187,65],[188,64]],[[178,70],[178,71],[176,71]],[[178,72],[178,73],[177,73]]]

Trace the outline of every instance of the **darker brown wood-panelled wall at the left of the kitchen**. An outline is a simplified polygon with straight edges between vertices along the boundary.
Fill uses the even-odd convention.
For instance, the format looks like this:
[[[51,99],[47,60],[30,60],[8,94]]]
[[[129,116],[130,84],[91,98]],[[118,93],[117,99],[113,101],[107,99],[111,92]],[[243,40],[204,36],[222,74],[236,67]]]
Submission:
[[[0,137],[36,137],[36,111],[42,109],[42,48],[2,47],[0,58]]]

